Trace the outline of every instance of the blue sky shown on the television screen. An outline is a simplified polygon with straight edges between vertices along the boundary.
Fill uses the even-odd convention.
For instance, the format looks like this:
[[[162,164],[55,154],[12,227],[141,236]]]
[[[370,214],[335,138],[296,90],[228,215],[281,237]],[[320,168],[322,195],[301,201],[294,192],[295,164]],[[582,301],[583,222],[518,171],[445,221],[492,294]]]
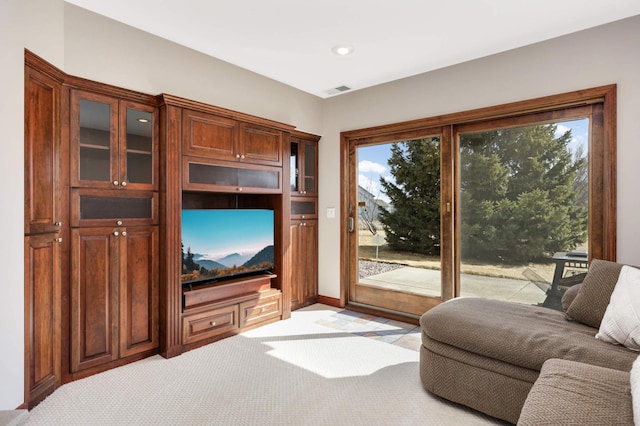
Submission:
[[[273,211],[183,210],[182,243],[211,260],[256,253],[273,245]]]

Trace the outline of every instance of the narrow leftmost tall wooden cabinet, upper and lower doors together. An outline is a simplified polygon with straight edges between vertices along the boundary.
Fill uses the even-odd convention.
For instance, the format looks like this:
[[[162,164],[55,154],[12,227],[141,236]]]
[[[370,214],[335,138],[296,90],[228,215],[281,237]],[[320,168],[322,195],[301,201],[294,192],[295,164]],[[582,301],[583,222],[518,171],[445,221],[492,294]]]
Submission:
[[[35,57],[25,66],[24,345],[25,403],[61,384],[62,259],[66,144],[61,137],[59,71]]]

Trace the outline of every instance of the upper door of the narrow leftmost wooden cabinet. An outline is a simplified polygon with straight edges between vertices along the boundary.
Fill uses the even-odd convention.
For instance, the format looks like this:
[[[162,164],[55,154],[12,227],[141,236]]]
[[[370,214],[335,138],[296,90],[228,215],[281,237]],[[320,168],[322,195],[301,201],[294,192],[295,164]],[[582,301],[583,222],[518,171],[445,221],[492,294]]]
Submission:
[[[25,72],[24,233],[57,232],[62,208],[61,85],[29,67]]]

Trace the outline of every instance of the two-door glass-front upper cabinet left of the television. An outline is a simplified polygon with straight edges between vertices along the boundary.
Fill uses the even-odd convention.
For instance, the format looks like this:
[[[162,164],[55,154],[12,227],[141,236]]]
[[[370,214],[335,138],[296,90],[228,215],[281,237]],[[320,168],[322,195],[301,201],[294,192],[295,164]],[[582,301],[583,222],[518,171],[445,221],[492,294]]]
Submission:
[[[153,106],[71,92],[71,186],[158,189]]]

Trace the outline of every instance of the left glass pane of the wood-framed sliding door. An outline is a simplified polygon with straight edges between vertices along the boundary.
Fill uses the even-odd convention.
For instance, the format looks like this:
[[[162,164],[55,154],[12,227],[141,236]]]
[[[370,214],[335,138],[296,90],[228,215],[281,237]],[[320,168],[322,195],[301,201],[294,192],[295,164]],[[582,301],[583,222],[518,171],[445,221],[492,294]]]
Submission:
[[[359,284],[440,297],[440,138],[357,155]]]

